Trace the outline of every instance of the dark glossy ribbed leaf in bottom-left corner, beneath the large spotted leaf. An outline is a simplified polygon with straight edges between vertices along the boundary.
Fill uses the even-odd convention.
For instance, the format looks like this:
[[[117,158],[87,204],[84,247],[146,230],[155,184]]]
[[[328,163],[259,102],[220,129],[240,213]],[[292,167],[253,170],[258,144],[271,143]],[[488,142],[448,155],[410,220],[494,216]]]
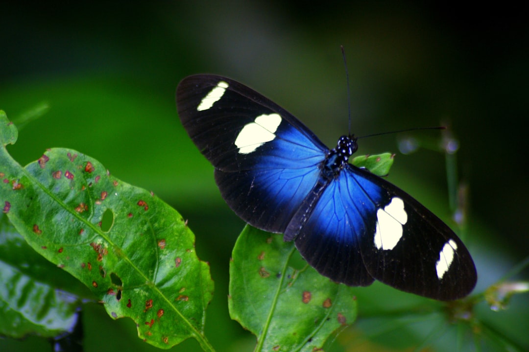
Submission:
[[[63,288],[68,279],[75,279],[33,251],[3,215],[0,213],[0,336],[54,337],[71,330],[80,301]]]

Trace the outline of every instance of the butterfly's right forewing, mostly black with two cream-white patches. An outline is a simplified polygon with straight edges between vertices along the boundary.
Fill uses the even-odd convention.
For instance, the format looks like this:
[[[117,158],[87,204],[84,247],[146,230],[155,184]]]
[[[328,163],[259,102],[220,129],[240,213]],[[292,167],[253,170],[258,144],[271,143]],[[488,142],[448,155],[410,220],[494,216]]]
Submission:
[[[355,178],[380,188],[375,231],[360,239],[368,272],[394,288],[425,297],[454,300],[470,293],[476,267],[454,232],[403,190],[364,170],[351,170]]]

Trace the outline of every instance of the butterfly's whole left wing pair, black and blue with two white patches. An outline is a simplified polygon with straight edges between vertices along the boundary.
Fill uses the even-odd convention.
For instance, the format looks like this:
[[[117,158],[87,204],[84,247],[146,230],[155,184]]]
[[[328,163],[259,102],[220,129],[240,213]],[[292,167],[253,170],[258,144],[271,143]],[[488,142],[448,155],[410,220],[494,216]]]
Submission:
[[[252,226],[284,232],[318,178],[323,143],[277,104],[225,77],[184,79],[177,106],[235,214]]]

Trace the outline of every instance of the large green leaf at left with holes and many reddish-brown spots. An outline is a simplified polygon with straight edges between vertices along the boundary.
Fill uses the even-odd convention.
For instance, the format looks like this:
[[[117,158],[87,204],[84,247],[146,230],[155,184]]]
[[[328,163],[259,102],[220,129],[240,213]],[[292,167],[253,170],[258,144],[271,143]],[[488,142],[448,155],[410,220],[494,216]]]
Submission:
[[[5,146],[16,128],[0,114],[0,206],[25,240],[87,285],[114,319],[170,348],[204,336],[213,281],[178,212],[114,178],[97,160],[50,149],[22,168]]]

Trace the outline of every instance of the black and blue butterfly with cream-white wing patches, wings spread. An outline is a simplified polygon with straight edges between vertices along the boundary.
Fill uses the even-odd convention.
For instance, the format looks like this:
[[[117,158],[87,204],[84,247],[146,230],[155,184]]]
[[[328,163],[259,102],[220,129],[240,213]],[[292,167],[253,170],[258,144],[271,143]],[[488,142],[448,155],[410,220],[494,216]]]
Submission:
[[[476,267],[457,235],[409,194],[348,162],[354,135],[329,149],[284,108],[221,76],[184,78],[176,102],[227,205],[248,224],[294,240],[322,275],[350,286],[379,280],[437,300],[474,288]]]

